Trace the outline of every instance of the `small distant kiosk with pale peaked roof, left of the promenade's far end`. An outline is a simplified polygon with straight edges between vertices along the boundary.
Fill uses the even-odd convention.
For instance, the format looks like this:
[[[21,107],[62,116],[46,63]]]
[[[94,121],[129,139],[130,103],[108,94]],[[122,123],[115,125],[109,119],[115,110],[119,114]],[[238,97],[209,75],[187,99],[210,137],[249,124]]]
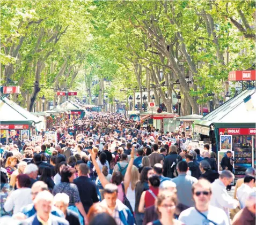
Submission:
[[[55,108],[53,108],[53,111],[67,112],[69,119],[84,118],[84,115],[85,115],[84,109],[69,99],[57,105]]]

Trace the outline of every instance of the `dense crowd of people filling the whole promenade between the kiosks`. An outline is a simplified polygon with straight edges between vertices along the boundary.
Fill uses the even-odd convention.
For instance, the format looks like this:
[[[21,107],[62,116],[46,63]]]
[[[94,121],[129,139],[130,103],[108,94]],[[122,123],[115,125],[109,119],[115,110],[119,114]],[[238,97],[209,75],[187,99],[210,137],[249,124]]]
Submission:
[[[56,139],[47,133],[57,132]],[[2,151],[1,224],[255,224],[255,169],[236,182],[231,152],[180,149],[183,133],[87,113]]]

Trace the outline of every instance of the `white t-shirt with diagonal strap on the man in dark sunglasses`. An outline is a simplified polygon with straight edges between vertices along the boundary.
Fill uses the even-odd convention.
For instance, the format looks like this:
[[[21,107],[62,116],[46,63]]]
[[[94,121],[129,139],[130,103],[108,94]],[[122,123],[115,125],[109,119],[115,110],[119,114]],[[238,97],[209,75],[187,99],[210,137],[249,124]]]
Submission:
[[[221,208],[209,206],[209,210],[207,212],[203,212],[203,214],[207,216],[208,220],[196,211],[195,207],[190,207],[180,213],[179,221],[186,225],[214,225],[214,223],[209,221],[211,220],[218,225],[229,225],[228,216]]]

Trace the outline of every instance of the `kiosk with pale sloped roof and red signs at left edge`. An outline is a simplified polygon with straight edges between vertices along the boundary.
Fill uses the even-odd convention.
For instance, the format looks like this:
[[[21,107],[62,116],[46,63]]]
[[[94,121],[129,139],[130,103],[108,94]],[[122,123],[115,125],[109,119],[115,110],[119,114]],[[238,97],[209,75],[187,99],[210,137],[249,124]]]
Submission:
[[[36,135],[36,124],[41,119],[35,117],[23,107],[6,97],[0,99],[0,142],[5,145],[10,142],[18,144],[19,141],[31,139]]]

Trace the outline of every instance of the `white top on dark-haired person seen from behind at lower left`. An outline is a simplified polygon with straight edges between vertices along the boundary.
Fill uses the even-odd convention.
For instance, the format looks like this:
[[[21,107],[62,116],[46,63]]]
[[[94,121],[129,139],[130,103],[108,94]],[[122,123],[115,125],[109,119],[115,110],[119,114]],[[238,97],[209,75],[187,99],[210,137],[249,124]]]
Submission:
[[[4,210],[9,212],[13,209],[13,214],[20,212],[25,205],[33,203],[30,188],[19,188],[13,191],[4,203]]]

